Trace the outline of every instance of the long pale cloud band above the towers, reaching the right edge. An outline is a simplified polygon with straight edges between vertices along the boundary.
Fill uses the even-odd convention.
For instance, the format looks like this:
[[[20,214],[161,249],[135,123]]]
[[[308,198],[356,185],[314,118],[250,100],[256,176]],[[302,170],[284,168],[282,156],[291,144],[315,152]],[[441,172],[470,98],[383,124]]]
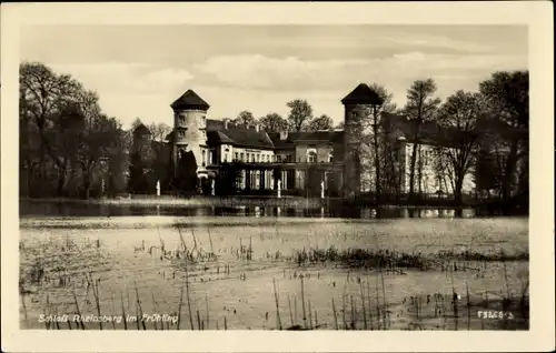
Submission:
[[[359,82],[388,85],[440,75],[488,75],[496,70],[527,68],[525,56],[461,56],[398,52],[386,58],[301,60],[297,57],[218,56],[193,65],[205,84],[275,91],[338,90]],[[486,78],[486,77],[485,77]]]

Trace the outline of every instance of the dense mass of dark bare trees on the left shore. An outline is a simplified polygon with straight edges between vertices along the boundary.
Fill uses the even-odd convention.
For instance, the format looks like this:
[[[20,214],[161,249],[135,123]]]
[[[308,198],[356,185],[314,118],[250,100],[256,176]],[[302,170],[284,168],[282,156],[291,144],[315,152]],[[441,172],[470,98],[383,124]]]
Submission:
[[[22,196],[117,194],[126,184],[129,135],[95,92],[41,63],[19,69]]]

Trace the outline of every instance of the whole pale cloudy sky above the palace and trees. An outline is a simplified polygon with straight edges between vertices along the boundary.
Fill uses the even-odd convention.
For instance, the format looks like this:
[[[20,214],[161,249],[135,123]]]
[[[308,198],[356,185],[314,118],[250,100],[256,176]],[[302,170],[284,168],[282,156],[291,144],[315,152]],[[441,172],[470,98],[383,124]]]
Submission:
[[[399,105],[413,81],[431,77],[438,97],[477,90],[496,70],[527,69],[517,26],[48,26],[21,32],[21,60],[70,73],[125,127],[171,124],[169,104],[188,89],[209,118],[288,114],[306,99],[342,120],[340,100],[377,82]]]

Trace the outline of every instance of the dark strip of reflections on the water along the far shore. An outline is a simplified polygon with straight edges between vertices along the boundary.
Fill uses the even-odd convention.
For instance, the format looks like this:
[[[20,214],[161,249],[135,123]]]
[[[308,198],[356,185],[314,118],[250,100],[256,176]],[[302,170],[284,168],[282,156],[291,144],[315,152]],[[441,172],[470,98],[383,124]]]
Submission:
[[[463,209],[461,218],[476,216],[474,209]],[[388,208],[285,208],[285,206],[168,206],[115,205],[59,202],[20,202],[21,216],[125,216],[125,215],[180,215],[180,216],[291,216],[291,218],[346,218],[346,219],[406,219],[455,218],[453,209]]]

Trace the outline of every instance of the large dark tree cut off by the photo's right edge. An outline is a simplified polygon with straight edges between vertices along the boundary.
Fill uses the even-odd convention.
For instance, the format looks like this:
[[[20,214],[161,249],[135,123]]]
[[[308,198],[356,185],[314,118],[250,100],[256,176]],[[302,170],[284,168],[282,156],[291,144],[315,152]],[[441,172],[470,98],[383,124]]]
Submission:
[[[488,80],[480,82],[479,90],[490,111],[487,125],[494,127],[487,132],[498,137],[496,141],[502,144],[505,154],[502,198],[506,201],[512,196],[516,174],[522,175],[522,182],[517,182],[518,188],[522,185],[518,192],[528,193],[529,73],[494,72]]]

